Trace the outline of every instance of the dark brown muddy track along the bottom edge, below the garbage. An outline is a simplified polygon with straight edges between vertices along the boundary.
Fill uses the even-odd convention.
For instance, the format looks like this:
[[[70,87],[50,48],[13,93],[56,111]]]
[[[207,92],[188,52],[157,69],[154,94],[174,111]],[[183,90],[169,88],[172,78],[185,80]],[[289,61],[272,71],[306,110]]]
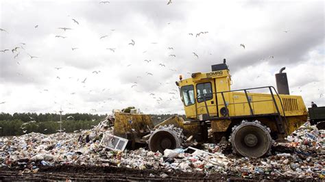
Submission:
[[[168,177],[161,178],[160,174],[165,172]],[[153,176],[154,175],[154,176]],[[242,179],[236,175],[210,174],[202,172],[167,172],[163,170],[133,170],[130,168],[99,167],[99,166],[39,166],[36,173],[22,173],[22,170],[13,168],[0,168],[1,181],[243,181],[262,179],[274,180],[294,180],[302,181],[306,179],[293,179],[285,177],[257,176],[253,179]]]

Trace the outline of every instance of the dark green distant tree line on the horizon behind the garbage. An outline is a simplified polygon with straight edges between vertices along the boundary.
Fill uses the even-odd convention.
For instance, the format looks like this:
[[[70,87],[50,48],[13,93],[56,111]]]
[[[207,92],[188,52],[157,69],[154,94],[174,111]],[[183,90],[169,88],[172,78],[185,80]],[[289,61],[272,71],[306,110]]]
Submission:
[[[107,115],[62,114],[61,129],[71,133],[91,129],[104,120]],[[175,114],[151,114],[152,122],[157,125]],[[60,130],[60,114],[0,113],[0,136],[23,135],[26,133],[57,133]]]

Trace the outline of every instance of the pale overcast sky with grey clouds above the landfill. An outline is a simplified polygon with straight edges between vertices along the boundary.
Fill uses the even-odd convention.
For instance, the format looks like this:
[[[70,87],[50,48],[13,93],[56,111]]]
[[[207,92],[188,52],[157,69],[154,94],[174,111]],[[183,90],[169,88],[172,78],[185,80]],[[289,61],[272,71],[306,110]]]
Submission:
[[[324,1],[99,2],[0,1],[0,112],[182,114],[178,75],[223,58],[232,89],[286,66],[291,94],[325,106]]]

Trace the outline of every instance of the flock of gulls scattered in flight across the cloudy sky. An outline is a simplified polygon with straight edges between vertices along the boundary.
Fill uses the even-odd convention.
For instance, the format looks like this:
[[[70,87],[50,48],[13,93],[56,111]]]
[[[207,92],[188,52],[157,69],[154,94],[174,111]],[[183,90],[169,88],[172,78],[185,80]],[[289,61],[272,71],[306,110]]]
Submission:
[[[172,3],[173,2],[171,0],[167,1],[167,5],[171,5]],[[99,1],[99,4],[108,5],[108,4],[110,4],[110,1]],[[56,34],[56,35],[54,35],[54,37],[57,38],[58,40],[59,39],[66,39],[66,38],[68,38],[68,36],[66,36],[66,34],[64,34],[65,32],[67,32],[67,31],[75,31],[76,29],[78,29],[78,26],[82,25],[82,21],[79,21],[78,18],[71,18],[71,23],[73,25],[72,27],[64,27],[64,26],[57,27],[56,29],[60,30],[60,34]],[[170,23],[167,23],[167,24],[169,25]],[[33,25],[33,26],[34,26],[35,29],[38,29],[38,28],[40,28],[41,25]],[[116,31],[116,30],[115,29],[110,29],[110,31]],[[288,33],[287,30],[283,31],[283,32],[285,32],[286,34]],[[7,31],[6,29],[0,28],[0,33],[1,34],[10,34],[10,31]],[[210,34],[210,33],[209,33],[209,31],[199,31],[197,33],[192,32],[192,33],[186,33],[186,34],[188,36],[193,36],[194,38],[202,38],[204,36],[208,36],[208,34]],[[97,38],[99,38],[100,41],[106,41],[106,39],[109,38],[109,37],[110,37],[110,34],[101,34],[101,35],[98,35]],[[159,42],[151,42],[151,44],[159,44]],[[125,42],[125,45],[127,45],[129,47],[136,47],[136,39],[130,39],[129,42]],[[22,55],[28,56],[30,60],[42,59],[42,56],[32,55],[32,53],[27,51],[28,49],[25,49],[27,46],[28,46],[28,44],[25,44],[25,43],[21,42],[19,44],[16,44],[15,47],[0,50],[0,53],[11,53],[14,60],[18,59]],[[239,44],[239,47],[242,47],[243,50],[249,49],[249,47],[246,47],[245,44],[243,44],[243,43]],[[166,50],[168,51],[167,56],[171,57],[171,59],[173,59],[173,57],[176,58],[176,55],[177,55],[176,49],[177,49],[177,47],[171,47],[171,46],[166,47]],[[82,47],[71,47],[71,51],[73,51],[73,52],[79,51],[79,50],[82,50]],[[113,53],[118,52],[119,47],[108,47],[108,48],[106,48],[106,50],[110,51],[110,53],[113,54]],[[147,53],[147,51],[143,51],[143,54],[144,53]],[[200,60],[200,56],[195,51],[193,51],[191,53],[191,55],[193,56],[193,59]],[[268,58],[274,59],[274,55],[270,55]],[[178,71],[176,68],[169,68],[167,63],[162,62],[162,61],[156,62],[155,60],[144,58],[143,63],[147,64],[147,65],[156,64],[156,66],[159,66],[160,68],[168,68],[168,70],[170,70],[172,72],[177,72]],[[17,61],[16,64],[20,65],[21,63],[19,61]],[[131,66],[132,66],[132,64],[125,65],[126,68],[131,67]],[[60,72],[60,70],[62,70],[62,69],[64,70],[64,68],[62,66],[56,66],[53,69],[56,69],[58,71],[58,73]],[[93,75],[101,75],[101,70],[93,70],[91,73]],[[19,76],[23,76],[23,74],[21,74],[21,73],[16,73],[16,74],[19,75]],[[187,72],[187,74],[191,74],[191,73]],[[146,77],[152,77],[153,75],[154,75],[154,71],[146,71],[145,72]],[[145,77],[145,76],[143,76],[143,77]],[[143,79],[143,77],[137,76],[136,81],[130,82],[130,89],[136,89],[136,88],[141,87],[141,85],[140,85],[141,81],[140,80]],[[69,77],[68,79],[71,79],[71,78],[72,77]],[[56,79],[61,80],[62,78],[61,78],[60,75],[57,75]],[[87,77],[84,77],[82,79],[77,79],[77,81],[79,83],[82,83],[82,84],[85,85],[87,83]],[[167,83],[159,83],[159,84],[162,85],[162,84],[169,84],[169,83],[167,82]],[[109,90],[110,90],[110,88],[101,88],[101,92],[103,94],[107,94]],[[50,92],[50,91],[51,90],[49,90],[49,89],[43,89],[43,90],[40,91],[40,93],[41,92]],[[77,92],[78,91],[76,90],[75,92],[69,92],[69,94],[71,96],[73,96]],[[93,93],[93,92],[94,92],[94,90],[89,90],[88,93]],[[177,99],[176,95],[177,95],[178,92],[179,92],[178,90],[172,89],[172,90],[167,90],[166,91],[166,93],[168,93],[169,96],[160,96],[160,95],[158,95],[158,93],[149,93],[148,96],[150,96],[152,99],[155,99],[156,103],[161,104],[164,100],[165,101],[173,101],[173,100]],[[322,97],[322,95],[321,95],[321,97]],[[106,98],[105,101],[99,102],[99,106],[104,107],[104,104],[106,102],[109,102],[109,101],[112,101],[112,100],[114,100],[114,99]],[[0,104],[5,104],[5,103],[6,103],[5,101],[0,102]],[[57,102],[54,101],[54,103],[57,103]],[[69,107],[69,109],[73,109],[73,107],[72,107],[73,104],[69,103],[69,105],[71,106],[71,107]],[[92,108],[92,109],[90,109],[90,112],[97,112],[98,109],[99,109],[98,107]]]

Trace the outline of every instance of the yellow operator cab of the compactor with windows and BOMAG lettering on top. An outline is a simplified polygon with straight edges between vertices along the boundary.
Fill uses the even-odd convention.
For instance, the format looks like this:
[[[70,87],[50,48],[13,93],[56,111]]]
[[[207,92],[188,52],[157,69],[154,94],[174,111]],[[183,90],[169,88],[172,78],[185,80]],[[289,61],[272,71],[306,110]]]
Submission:
[[[184,105],[186,118],[197,119],[200,115],[209,114],[219,116],[218,101],[223,101],[216,92],[230,90],[230,74],[226,60],[222,64],[215,64],[212,72],[193,73],[191,78],[176,81],[180,88],[180,97]]]

